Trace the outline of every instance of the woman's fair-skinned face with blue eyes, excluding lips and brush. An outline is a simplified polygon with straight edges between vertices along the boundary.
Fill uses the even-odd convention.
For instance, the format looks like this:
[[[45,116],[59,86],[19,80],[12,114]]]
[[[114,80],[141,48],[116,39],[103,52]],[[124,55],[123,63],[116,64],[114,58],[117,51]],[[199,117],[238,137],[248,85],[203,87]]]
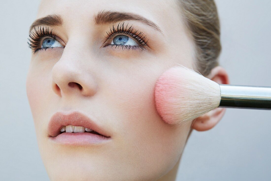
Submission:
[[[175,2],[47,0],[38,10],[37,19],[43,17],[34,23],[37,32],[30,30],[43,37],[30,39],[36,52],[26,86],[50,179],[142,181],[168,173],[191,127],[167,125],[154,103],[155,83],[165,70],[193,65],[193,43]],[[50,118],[75,111],[110,139],[85,145],[52,141]]]

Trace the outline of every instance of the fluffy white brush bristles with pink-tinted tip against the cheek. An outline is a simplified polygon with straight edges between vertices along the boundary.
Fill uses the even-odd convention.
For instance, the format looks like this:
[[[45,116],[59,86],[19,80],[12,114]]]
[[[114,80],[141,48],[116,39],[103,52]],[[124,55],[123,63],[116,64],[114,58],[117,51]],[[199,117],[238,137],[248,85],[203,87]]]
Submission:
[[[220,104],[220,86],[184,66],[159,77],[155,86],[156,110],[168,124],[189,122]]]

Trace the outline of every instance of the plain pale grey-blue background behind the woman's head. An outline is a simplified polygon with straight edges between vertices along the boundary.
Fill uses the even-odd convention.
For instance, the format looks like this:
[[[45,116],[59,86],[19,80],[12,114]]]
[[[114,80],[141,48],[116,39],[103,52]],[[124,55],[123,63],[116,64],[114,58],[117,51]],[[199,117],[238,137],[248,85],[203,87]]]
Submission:
[[[271,1],[217,0],[221,65],[235,85],[271,86]],[[1,180],[49,180],[25,90],[28,28],[39,1],[0,0]],[[193,131],[177,180],[271,180],[271,112],[227,109],[214,129]]]

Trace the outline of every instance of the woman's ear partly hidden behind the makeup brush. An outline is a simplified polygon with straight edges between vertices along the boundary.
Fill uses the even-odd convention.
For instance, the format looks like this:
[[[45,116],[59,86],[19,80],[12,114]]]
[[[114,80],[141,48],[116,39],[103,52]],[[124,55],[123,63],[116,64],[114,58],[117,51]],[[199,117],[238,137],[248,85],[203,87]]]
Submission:
[[[221,66],[213,68],[206,77],[218,84],[230,84],[228,74]],[[197,131],[207,131],[213,128],[221,120],[225,111],[226,109],[221,107],[209,111],[205,115],[196,118],[192,123],[192,128]]]

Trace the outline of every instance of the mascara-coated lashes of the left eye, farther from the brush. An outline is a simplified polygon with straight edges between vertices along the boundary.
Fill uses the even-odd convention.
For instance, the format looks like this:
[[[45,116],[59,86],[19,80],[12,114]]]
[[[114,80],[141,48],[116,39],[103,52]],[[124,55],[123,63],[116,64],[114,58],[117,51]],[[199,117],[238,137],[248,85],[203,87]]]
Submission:
[[[27,44],[28,44],[28,47],[34,51],[34,53],[37,52],[38,50],[41,50],[41,49],[46,50],[47,48],[49,48],[49,47],[39,48],[41,39],[43,37],[51,37],[57,41],[56,35],[52,34],[52,30],[49,31],[49,28],[47,27],[45,27],[45,29],[44,27],[42,28],[34,27],[34,32],[30,32],[29,37],[30,39],[28,38]],[[50,47],[50,48],[53,48],[53,47]]]

